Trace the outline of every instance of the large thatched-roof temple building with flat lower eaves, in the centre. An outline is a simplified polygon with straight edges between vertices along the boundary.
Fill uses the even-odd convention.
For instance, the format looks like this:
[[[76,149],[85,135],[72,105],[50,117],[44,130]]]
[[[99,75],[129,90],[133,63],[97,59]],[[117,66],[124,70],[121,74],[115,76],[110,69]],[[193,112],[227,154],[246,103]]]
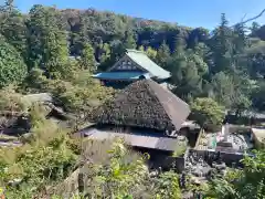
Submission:
[[[189,114],[189,105],[169,90],[152,80],[140,80],[96,108],[89,121],[95,125],[80,135],[95,140],[119,137],[152,158],[163,158],[187,147],[187,133],[181,128]]]

